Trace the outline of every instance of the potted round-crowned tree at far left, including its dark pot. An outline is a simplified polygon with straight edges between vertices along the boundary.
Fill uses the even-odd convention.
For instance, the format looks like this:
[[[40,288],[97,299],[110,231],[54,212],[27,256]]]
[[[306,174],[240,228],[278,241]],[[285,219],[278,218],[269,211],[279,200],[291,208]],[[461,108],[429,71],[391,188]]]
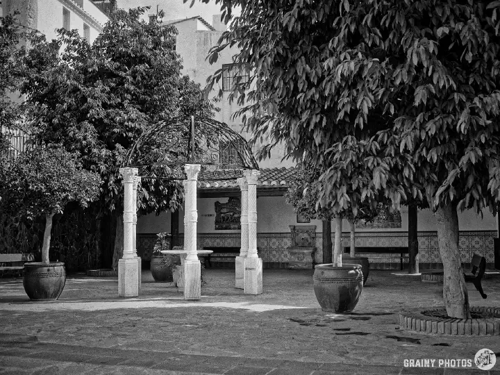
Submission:
[[[0,186],[1,209],[11,215],[45,217],[42,262],[25,263],[23,285],[34,301],[58,299],[66,282],[63,262],[51,262],[49,249],[54,215],[63,213],[70,201],[88,206],[99,197],[99,174],[82,168],[78,154],[62,147],[35,147],[22,153],[4,172]]]

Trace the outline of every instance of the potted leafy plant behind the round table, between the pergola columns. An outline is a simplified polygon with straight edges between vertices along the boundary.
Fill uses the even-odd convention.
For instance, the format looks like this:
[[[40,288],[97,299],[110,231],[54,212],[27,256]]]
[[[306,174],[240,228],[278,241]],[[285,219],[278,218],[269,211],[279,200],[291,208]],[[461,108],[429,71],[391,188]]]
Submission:
[[[181,265],[181,257],[174,254],[163,254],[161,251],[170,249],[170,233],[162,232],[156,235],[158,239],[151,254],[151,275],[157,283],[172,283],[174,268]]]

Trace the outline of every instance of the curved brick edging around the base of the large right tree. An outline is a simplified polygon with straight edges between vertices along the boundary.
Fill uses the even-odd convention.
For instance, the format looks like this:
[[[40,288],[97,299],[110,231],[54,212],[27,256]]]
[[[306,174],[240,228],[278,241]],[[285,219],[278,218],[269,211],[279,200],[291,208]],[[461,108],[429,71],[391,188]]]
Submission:
[[[500,315],[500,308],[471,307],[471,313]],[[408,331],[435,335],[500,336],[500,319],[444,319],[422,313],[399,313],[399,326]]]

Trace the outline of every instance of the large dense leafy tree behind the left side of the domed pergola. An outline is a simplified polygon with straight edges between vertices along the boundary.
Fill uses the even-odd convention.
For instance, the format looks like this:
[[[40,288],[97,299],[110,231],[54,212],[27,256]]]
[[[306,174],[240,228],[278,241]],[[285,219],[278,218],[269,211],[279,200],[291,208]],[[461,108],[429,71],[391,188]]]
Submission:
[[[181,74],[175,28],[140,21],[145,10],[113,12],[92,45],[76,30],[60,29],[58,40],[33,44],[24,60],[33,72],[23,93],[33,105],[35,138],[78,152],[85,169],[101,174],[103,188],[93,206],[98,218],[113,213],[117,228],[123,209],[119,167],[128,149],[153,124],[215,110],[199,85]],[[145,180],[138,205],[142,213],[176,208],[181,189],[175,181]],[[116,231],[115,263],[122,240]]]

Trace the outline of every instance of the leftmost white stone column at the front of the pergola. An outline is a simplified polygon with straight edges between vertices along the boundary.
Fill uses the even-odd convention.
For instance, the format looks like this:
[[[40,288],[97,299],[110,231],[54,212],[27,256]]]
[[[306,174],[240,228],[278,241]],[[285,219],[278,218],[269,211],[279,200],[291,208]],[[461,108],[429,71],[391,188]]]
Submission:
[[[119,297],[138,297],[139,275],[138,258],[133,254],[133,183],[138,173],[137,168],[120,168],[124,181],[124,252],[118,260],[118,295]]]

